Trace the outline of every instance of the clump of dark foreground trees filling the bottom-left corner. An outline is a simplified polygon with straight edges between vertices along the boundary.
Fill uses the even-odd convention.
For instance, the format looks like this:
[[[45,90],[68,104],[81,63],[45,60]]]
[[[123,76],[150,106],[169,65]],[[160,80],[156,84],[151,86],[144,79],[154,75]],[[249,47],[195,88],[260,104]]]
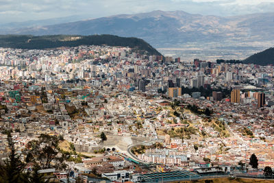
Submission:
[[[41,134],[38,140],[29,141],[25,150],[27,153],[25,162],[32,164],[32,169],[27,169],[27,164],[21,160],[21,154],[16,152],[10,131],[7,134],[10,154],[8,159],[0,164],[1,183],[47,183],[49,179],[39,173],[39,170],[66,169],[64,160],[68,160],[69,156],[62,153],[58,147],[62,136]]]

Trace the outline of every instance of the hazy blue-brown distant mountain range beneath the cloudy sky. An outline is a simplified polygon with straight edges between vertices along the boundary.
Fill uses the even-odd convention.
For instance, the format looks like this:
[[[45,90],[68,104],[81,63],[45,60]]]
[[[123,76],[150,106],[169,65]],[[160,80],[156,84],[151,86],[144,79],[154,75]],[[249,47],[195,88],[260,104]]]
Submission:
[[[274,13],[242,16],[203,16],[183,11],[120,14],[99,19],[1,31],[0,34],[92,35],[112,34],[142,38],[153,47],[179,47],[207,42],[238,45],[273,41]],[[228,45],[229,45],[228,44]],[[215,44],[216,45],[216,44]]]

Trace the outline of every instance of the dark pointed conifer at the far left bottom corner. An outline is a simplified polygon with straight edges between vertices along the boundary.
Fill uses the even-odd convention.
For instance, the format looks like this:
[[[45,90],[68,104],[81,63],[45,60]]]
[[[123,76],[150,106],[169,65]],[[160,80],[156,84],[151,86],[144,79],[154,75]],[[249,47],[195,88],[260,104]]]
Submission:
[[[24,182],[25,164],[21,161],[20,155],[16,154],[10,132],[8,132],[8,147],[11,152],[8,160],[5,160],[4,164],[0,166],[0,180],[7,183]]]

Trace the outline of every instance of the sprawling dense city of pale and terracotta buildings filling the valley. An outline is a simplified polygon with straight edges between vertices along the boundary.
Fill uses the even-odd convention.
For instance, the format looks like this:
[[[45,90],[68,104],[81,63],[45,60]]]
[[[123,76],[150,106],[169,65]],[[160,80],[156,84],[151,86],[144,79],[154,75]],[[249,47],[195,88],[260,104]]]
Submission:
[[[274,182],[273,57],[244,60],[256,42],[24,38],[0,36],[0,183]]]

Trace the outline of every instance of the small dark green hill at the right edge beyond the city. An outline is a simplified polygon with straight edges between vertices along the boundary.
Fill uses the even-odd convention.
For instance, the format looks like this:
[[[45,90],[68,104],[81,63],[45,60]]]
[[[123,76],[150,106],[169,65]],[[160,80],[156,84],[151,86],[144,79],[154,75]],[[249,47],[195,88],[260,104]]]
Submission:
[[[266,49],[260,53],[243,60],[245,64],[269,65],[274,64],[274,48]]]

